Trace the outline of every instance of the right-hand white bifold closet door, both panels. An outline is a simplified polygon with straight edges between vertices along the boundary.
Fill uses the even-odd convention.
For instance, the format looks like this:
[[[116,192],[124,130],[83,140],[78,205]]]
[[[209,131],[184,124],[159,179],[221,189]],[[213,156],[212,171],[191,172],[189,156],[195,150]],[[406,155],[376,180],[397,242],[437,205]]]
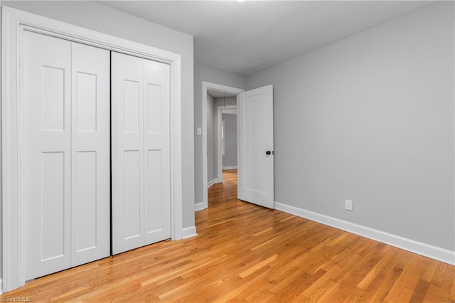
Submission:
[[[171,237],[170,68],[112,53],[112,249]]]

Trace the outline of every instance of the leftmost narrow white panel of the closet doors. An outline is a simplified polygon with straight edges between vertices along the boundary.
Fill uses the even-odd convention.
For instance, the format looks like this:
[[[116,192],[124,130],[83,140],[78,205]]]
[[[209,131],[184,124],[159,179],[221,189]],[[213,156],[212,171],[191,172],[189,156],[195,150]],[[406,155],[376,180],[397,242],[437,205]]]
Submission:
[[[26,280],[70,267],[71,43],[25,32]]]

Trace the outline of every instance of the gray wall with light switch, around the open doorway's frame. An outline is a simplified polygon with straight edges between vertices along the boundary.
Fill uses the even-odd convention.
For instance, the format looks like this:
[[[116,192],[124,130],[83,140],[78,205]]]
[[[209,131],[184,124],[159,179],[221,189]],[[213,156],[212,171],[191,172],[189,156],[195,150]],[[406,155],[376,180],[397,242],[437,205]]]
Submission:
[[[202,178],[202,136],[196,135],[196,128],[202,127],[202,83],[210,82],[231,87],[245,88],[245,77],[209,68],[208,66],[194,65],[194,181],[195,181],[195,202],[203,202],[203,178]]]

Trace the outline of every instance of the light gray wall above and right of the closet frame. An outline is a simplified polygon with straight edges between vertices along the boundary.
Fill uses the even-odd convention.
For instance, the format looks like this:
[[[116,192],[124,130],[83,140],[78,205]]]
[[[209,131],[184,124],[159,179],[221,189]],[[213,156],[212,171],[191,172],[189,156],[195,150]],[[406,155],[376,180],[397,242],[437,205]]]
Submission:
[[[182,58],[183,228],[194,225],[193,36],[89,1],[2,1],[33,14],[144,43]]]

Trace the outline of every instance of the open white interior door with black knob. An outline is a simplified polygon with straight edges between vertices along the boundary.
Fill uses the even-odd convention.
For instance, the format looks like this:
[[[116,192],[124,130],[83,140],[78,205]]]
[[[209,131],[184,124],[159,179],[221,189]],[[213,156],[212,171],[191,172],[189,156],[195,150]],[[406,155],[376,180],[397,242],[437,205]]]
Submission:
[[[273,86],[241,92],[238,105],[238,198],[274,208]]]

